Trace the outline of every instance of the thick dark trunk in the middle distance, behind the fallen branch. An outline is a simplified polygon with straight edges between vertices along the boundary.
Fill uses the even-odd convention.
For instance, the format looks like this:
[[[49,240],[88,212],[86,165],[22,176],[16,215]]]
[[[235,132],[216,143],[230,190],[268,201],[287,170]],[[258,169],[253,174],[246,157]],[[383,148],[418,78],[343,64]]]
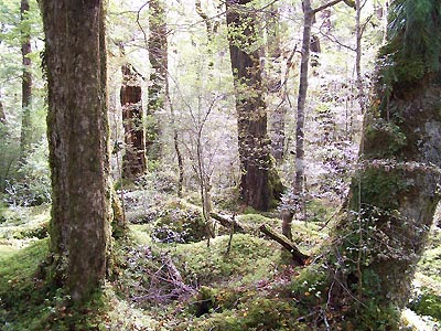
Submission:
[[[269,209],[269,141],[267,109],[259,63],[256,14],[244,4],[250,0],[227,1],[229,53],[236,90],[236,111],[240,160],[240,195],[247,205]]]

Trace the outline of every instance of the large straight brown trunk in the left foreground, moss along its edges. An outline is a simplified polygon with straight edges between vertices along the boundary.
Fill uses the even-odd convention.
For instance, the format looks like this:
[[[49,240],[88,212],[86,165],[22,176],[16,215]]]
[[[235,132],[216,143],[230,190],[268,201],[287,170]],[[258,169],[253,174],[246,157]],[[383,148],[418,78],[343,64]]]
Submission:
[[[40,1],[49,85],[54,281],[84,301],[106,276],[110,190],[103,1]]]

